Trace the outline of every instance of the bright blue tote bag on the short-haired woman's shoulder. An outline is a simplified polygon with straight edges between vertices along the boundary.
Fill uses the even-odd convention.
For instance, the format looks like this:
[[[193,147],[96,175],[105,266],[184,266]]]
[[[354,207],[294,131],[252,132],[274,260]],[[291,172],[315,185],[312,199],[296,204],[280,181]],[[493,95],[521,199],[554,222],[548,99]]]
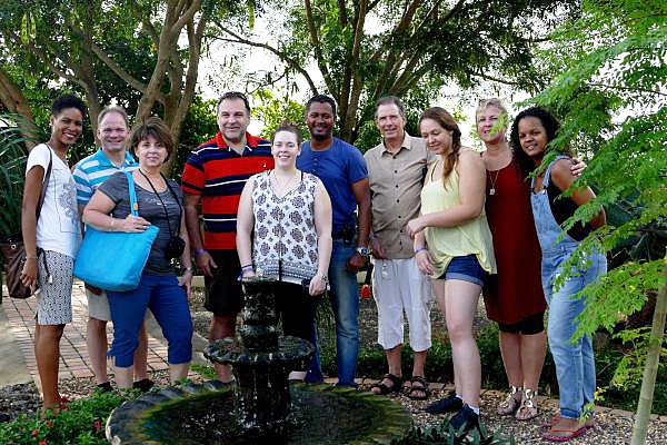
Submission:
[[[130,211],[139,216],[135,179],[132,174],[125,174],[130,190]],[[104,290],[136,289],[159,231],[160,228],[152,225],[139,234],[100,231],[87,225],[74,260],[74,276]]]

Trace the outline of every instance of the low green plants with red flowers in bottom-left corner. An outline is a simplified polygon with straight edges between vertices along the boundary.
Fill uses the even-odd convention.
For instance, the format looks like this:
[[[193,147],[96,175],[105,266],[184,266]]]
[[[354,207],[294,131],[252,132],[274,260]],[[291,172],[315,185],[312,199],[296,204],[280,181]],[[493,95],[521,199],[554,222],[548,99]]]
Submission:
[[[59,444],[103,445],[107,444],[104,425],[112,409],[123,402],[136,398],[140,392],[123,394],[101,393],[68,404],[68,409],[58,416],[18,419],[0,424],[2,444]]]

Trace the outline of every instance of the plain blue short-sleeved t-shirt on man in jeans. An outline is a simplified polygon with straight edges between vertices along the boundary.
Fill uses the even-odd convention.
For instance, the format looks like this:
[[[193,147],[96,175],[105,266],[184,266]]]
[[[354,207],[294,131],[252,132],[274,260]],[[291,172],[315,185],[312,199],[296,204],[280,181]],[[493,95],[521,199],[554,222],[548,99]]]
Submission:
[[[332,231],[355,229],[357,199],[352,185],[368,178],[366,161],[358,148],[334,138],[326,150],[312,150],[310,141],[301,146],[297,168],[321,179],[331,198]]]

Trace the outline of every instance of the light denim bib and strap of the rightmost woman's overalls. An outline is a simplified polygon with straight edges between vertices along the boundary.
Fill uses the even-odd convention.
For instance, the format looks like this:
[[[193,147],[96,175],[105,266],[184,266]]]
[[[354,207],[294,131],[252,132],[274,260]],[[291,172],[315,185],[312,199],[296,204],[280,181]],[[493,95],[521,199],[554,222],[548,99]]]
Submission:
[[[558,221],[556,221],[556,218],[551,212],[551,205],[549,204],[549,196],[547,195],[547,187],[549,187],[551,179],[551,168],[560,159],[568,158],[566,156],[559,156],[554,159],[551,164],[549,164],[547,170],[545,171],[542,189],[540,191],[534,191],[536,178],[534,177],[530,181],[530,206],[532,207],[532,219],[535,220],[537,238],[539,239],[539,246],[542,249],[542,254],[556,248],[558,250],[564,248],[574,249],[579,244],[569,235],[563,234],[563,227],[560,227]]]

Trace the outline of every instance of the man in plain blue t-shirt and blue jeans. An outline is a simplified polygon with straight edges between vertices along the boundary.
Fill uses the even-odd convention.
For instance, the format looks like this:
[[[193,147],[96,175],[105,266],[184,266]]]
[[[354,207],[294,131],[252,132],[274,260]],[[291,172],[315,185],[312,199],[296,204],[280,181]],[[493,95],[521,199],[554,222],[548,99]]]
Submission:
[[[297,168],[320,178],[331,198],[334,248],[329,283],[336,317],[338,386],[355,387],[359,353],[357,273],[369,256],[370,189],[361,152],[332,136],[335,117],[336,102],[330,97],[318,95],[308,101],[306,125],[311,140],[303,142]],[[319,360],[316,363],[318,369],[308,380],[321,380]]]

